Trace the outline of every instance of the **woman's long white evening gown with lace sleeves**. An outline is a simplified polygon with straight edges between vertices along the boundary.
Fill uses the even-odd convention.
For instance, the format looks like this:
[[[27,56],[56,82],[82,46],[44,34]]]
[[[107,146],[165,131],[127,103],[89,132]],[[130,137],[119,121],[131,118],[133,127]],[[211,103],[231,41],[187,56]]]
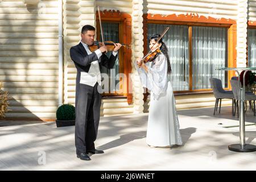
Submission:
[[[148,73],[135,63],[142,85],[151,91],[146,142],[155,147],[182,145],[166,56],[160,53],[153,62],[146,65]]]

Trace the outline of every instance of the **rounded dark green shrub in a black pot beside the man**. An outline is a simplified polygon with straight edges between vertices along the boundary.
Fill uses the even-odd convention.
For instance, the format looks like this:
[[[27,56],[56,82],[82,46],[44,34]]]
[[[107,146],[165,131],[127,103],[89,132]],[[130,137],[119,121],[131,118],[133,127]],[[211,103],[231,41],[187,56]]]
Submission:
[[[56,126],[74,126],[75,125],[75,107],[71,104],[63,104],[56,111]]]

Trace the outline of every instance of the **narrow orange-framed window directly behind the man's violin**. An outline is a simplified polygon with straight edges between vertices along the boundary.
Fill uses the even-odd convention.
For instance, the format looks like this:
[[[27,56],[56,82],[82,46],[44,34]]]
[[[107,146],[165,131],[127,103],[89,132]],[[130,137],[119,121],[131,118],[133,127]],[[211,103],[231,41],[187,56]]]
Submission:
[[[101,23],[105,41],[111,40],[125,45],[131,44],[131,15],[119,11],[101,11]],[[100,22],[98,11],[96,12],[97,40],[101,40]],[[109,52],[110,54],[111,52]],[[109,56],[109,55],[108,55]],[[129,73],[131,73],[131,49],[122,47],[118,51],[118,60],[115,67],[108,70],[102,67],[102,72],[108,74],[108,88],[103,88],[104,97],[126,97],[127,103],[131,104],[133,95],[129,92],[131,88]],[[127,76],[127,77],[126,77]],[[106,84],[106,82],[104,82]]]

